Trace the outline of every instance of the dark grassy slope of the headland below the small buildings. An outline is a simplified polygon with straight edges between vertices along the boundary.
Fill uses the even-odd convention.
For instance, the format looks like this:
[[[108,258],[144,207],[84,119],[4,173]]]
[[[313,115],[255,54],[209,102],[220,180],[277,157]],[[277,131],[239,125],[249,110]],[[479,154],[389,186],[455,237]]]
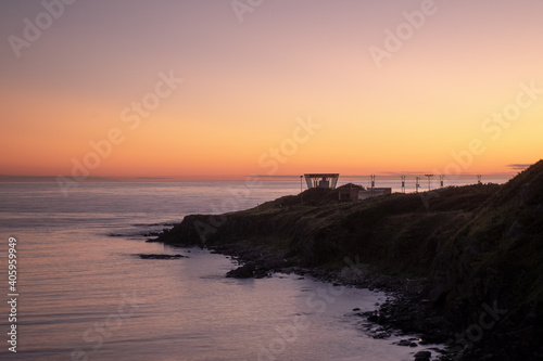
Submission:
[[[477,184],[344,203],[338,190],[311,189],[235,215],[261,219],[241,236],[288,249],[305,266],[342,267],[349,257],[381,272],[426,276],[444,240],[498,189]]]

